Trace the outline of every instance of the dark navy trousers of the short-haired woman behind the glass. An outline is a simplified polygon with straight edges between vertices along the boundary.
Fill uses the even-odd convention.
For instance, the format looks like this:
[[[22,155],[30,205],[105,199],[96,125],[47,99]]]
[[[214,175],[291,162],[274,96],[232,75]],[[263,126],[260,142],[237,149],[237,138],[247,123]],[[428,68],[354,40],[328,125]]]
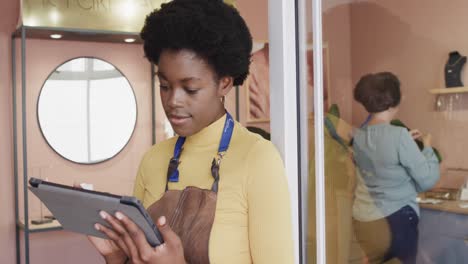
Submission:
[[[384,263],[397,258],[404,264],[416,263],[419,218],[407,205],[383,219],[354,220],[356,238],[369,263]]]

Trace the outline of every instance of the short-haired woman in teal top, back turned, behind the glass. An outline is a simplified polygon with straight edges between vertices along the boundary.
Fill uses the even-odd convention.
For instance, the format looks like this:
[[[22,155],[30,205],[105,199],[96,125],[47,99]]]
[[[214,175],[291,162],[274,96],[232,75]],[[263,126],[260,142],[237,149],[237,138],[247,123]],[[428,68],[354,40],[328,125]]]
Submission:
[[[415,263],[416,196],[431,189],[440,176],[431,136],[390,124],[401,101],[400,81],[390,72],[363,76],[354,98],[370,115],[353,137],[358,176],[353,205],[356,237],[369,263],[392,258]],[[414,141],[419,137],[422,152]]]

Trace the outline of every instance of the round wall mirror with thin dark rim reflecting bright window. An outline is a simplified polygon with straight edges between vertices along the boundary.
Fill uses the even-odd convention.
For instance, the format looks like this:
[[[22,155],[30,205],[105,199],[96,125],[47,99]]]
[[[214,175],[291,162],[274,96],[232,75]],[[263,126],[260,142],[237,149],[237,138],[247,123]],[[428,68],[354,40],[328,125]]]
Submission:
[[[125,76],[96,58],[58,66],[42,86],[39,127],[60,156],[95,164],[117,155],[135,129],[135,94]]]

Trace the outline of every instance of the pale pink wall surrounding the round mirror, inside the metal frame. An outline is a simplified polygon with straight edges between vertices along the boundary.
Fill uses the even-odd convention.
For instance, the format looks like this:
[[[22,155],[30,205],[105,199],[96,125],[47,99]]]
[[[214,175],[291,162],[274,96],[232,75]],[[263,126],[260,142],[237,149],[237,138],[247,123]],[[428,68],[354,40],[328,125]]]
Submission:
[[[132,85],[138,107],[136,128],[128,145],[113,159],[91,166],[75,164],[57,155],[42,137],[35,111],[42,84],[50,72],[64,61],[79,56],[98,57],[116,66]],[[48,177],[50,181],[67,185],[74,182],[93,183],[97,190],[131,194],[140,158],[151,146],[151,75],[150,65],[144,59],[141,45],[27,40],[26,60],[29,176]],[[111,99],[109,95],[109,100]],[[40,203],[31,194],[29,205],[30,217],[38,217]],[[79,250],[73,251],[70,248]],[[97,263],[100,259],[83,236],[65,232],[31,236],[30,254],[31,259],[35,259],[34,263],[42,263],[41,258],[44,263],[49,263],[50,257],[45,258],[45,254],[54,254],[57,263],[83,263],[82,258],[71,260],[72,251],[76,256],[86,256],[86,262]],[[66,261],[58,261],[59,259]]]

